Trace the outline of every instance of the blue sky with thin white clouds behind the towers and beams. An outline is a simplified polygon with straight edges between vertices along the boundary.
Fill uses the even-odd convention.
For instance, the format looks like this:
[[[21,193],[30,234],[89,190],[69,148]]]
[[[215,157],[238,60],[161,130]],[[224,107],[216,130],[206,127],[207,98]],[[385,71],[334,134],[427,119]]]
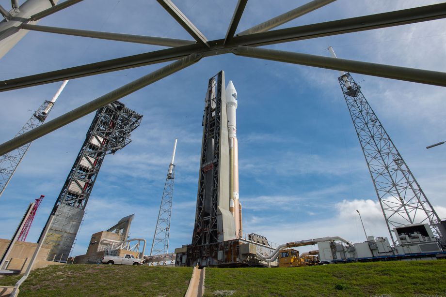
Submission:
[[[209,40],[226,33],[236,0],[176,0]],[[337,0],[282,27],[439,3],[433,0]],[[305,1],[249,1],[239,24],[245,30]],[[0,0],[9,7],[9,0]],[[191,39],[156,1],[83,1],[39,25]],[[270,48],[442,71],[446,69],[445,20],[271,45]],[[0,80],[158,50],[162,47],[29,32],[0,59]],[[164,64],[71,80],[49,119],[91,101]],[[178,138],[170,251],[191,242],[204,96],[209,77],[225,71],[239,94],[240,202],[244,232],[283,243],[341,236],[362,241],[355,209],[368,235],[388,236],[381,209],[337,72],[237,57],[199,63],[121,101],[143,114],[132,143],[106,157],[90,196],[73,255],[83,254],[92,233],[135,213],[131,236],[150,248],[172,146]],[[446,89],[352,74],[437,212],[446,217]],[[61,83],[3,92],[0,142],[13,137]],[[0,238],[10,238],[27,205],[46,195],[28,240],[35,241],[70,170],[93,114],[32,143],[0,198]],[[146,253],[149,252],[146,251]]]

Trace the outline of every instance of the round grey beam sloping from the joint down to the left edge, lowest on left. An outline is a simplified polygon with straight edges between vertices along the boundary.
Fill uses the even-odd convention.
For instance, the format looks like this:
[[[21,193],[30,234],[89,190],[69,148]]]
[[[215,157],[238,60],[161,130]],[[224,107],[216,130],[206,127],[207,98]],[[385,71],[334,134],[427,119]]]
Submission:
[[[138,78],[137,80],[134,80],[127,85],[124,85],[118,89],[112,90],[111,92],[96,98],[93,101],[90,101],[89,103],[83,104],[79,106],[78,108],[75,108],[62,116],[57,117],[56,119],[52,119],[48,121],[47,123],[36,127],[32,129],[31,131],[28,131],[24,134],[21,134],[3,144],[0,145],[0,155],[3,155],[13,149],[19,148],[22,145],[31,142],[39,137],[42,137],[56,129],[59,129],[76,119],[80,119],[83,116],[88,115],[89,113],[92,113],[96,111],[98,108],[105,106],[109,103],[112,103],[122,97],[127,96],[128,94],[131,94],[139,89],[142,89],[166,76],[169,76],[170,74],[173,74],[181,69],[184,69],[195,62],[197,62],[199,59],[201,59],[200,55],[190,55],[188,57],[185,57],[183,59],[177,60],[169,65],[166,65],[150,74],[147,74],[141,78]]]

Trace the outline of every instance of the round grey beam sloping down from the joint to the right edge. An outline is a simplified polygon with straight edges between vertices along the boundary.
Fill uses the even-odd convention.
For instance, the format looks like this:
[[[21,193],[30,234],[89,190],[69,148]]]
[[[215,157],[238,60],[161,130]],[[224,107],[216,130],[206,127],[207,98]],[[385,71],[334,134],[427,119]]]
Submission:
[[[239,56],[267,59],[319,68],[355,72],[385,78],[446,87],[446,73],[347,59],[335,59],[281,50],[239,46],[232,50]]]

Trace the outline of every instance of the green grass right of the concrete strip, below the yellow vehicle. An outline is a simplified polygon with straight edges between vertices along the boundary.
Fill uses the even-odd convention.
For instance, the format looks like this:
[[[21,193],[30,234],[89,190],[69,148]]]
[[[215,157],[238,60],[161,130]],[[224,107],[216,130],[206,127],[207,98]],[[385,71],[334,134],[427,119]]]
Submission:
[[[206,268],[205,296],[444,296],[446,261],[293,268]]]

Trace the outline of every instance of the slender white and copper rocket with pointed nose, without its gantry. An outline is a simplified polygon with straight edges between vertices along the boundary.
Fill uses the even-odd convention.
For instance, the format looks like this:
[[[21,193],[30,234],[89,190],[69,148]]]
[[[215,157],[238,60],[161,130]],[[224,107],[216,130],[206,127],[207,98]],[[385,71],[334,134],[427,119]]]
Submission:
[[[230,80],[226,87],[226,113],[229,138],[229,210],[234,216],[236,238],[241,237],[241,204],[239,202],[239,143],[237,140],[237,91]]]

